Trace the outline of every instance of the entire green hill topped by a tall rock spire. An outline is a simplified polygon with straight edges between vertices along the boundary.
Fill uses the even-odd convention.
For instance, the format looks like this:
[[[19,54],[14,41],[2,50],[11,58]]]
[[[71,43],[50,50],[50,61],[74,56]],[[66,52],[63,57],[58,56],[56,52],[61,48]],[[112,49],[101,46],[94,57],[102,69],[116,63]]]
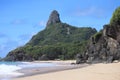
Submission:
[[[31,61],[74,59],[83,53],[90,37],[96,33],[91,27],[75,27],[62,23],[54,10],[49,16],[46,28],[38,32],[24,46],[8,53],[5,60]]]

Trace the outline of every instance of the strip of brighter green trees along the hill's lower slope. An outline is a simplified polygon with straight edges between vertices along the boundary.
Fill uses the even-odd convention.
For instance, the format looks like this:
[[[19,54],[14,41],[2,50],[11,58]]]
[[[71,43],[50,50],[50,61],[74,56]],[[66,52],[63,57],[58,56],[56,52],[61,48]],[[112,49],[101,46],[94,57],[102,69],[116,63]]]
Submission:
[[[85,49],[86,42],[76,43],[58,43],[45,46],[24,46],[17,48],[13,52],[24,52],[25,55],[29,55],[34,60],[39,59],[74,59],[77,53],[82,53]],[[42,57],[44,55],[44,58]],[[42,58],[41,58],[42,57]]]

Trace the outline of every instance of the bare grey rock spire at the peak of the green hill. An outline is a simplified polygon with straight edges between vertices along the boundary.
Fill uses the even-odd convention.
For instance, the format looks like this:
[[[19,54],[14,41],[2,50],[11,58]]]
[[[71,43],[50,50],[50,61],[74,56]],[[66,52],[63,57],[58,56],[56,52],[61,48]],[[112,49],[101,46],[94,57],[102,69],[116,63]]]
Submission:
[[[49,16],[49,20],[47,22],[47,25],[54,24],[54,23],[60,23],[59,13],[56,10],[53,10],[52,13]]]

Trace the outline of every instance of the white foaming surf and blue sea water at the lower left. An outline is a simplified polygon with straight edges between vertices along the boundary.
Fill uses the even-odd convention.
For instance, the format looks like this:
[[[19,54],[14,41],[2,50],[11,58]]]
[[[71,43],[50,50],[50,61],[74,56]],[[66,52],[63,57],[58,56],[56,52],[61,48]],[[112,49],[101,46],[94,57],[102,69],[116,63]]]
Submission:
[[[0,62],[0,80],[11,80],[14,77],[22,76],[18,70],[25,68],[53,67],[52,63],[32,63],[32,62]]]

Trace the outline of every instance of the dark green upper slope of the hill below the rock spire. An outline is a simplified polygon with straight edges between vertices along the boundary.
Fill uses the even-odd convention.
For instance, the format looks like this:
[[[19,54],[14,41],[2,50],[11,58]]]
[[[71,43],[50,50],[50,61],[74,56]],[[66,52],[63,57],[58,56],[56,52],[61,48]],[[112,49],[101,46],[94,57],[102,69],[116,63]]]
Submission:
[[[33,36],[28,45],[53,45],[56,43],[71,43],[88,40],[96,32],[95,29],[76,28],[65,23],[49,25],[37,35]]]

